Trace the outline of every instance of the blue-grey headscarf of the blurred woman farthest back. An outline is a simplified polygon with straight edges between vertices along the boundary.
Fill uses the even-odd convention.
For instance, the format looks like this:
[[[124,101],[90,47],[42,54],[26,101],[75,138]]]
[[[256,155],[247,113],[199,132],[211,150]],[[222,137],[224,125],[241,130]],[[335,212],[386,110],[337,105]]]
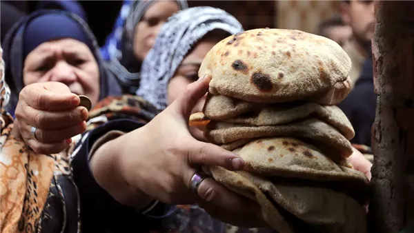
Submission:
[[[108,63],[108,68],[115,74],[115,77],[117,77],[121,85],[126,88],[139,86],[141,63],[137,61],[134,54],[133,43],[135,28],[139,21],[141,21],[146,10],[157,1],[159,0],[135,1],[125,22],[119,53],[117,54],[117,57],[112,57],[111,61]],[[174,1],[177,1],[180,10],[188,8],[186,0]]]

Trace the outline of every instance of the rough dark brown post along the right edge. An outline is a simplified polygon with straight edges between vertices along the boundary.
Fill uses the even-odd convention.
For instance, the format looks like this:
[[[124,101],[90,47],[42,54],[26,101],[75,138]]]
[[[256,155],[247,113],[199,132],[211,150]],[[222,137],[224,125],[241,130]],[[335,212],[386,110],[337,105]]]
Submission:
[[[414,0],[375,0],[373,197],[369,228],[398,233],[414,221]]]

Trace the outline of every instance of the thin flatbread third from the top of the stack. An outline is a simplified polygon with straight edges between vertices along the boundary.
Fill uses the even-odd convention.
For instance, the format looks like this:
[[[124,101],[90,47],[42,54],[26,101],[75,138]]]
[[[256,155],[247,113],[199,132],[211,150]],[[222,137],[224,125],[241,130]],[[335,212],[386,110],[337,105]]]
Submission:
[[[304,119],[285,125],[252,126],[211,121],[204,131],[210,143],[217,145],[232,143],[240,139],[259,139],[270,136],[289,136],[310,139],[325,145],[331,156],[347,158],[353,153],[351,143],[331,125],[316,118]]]

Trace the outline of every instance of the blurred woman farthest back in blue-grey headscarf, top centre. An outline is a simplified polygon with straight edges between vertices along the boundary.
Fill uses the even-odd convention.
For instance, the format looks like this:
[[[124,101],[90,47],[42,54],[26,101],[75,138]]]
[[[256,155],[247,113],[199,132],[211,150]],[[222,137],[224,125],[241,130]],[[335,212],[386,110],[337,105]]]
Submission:
[[[134,94],[137,90],[141,63],[152,48],[159,28],[172,14],[186,8],[186,0],[137,0],[132,3],[123,30],[118,29],[115,39],[103,49],[103,54],[110,58],[108,67],[125,94]]]

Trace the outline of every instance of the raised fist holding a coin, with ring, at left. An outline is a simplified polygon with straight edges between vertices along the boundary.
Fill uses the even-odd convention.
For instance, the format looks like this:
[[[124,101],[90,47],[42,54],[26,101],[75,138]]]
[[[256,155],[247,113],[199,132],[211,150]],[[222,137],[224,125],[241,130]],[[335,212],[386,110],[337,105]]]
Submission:
[[[72,136],[86,130],[88,110],[79,104],[79,97],[63,83],[27,85],[19,94],[12,134],[34,152],[61,152],[70,145]]]

